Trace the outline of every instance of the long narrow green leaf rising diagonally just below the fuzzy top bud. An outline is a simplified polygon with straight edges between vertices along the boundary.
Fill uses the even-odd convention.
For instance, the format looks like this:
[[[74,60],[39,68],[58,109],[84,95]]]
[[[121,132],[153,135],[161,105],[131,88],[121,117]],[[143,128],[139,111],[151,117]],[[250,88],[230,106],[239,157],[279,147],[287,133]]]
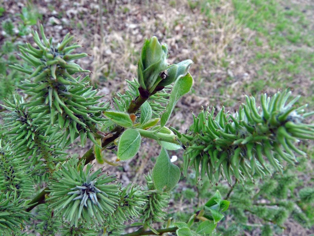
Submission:
[[[170,118],[172,110],[176,105],[176,102],[178,101],[179,98],[181,98],[181,96],[190,91],[192,84],[193,78],[190,75],[190,73],[187,73],[186,76],[182,77],[181,79],[175,82],[170,94],[169,103],[166,106],[166,111],[161,115],[160,126],[165,126],[165,124]]]

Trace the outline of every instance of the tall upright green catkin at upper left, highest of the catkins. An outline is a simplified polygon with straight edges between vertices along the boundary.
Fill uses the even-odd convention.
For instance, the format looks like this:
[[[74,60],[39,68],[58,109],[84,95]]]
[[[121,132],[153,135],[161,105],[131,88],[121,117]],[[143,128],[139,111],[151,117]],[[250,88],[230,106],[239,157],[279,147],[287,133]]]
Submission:
[[[30,74],[28,80],[22,81],[19,86],[24,94],[31,95],[25,102],[26,107],[32,108],[28,109],[28,113],[33,114],[35,107],[50,113],[50,123],[46,127],[47,130],[57,124],[57,121],[60,120],[58,117],[61,115],[64,120],[69,120],[70,123],[78,123],[78,131],[84,130],[84,132],[93,133],[100,121],[105,121],[99,111],[107,110],[109,103],[98,104],[98,99],[102,96],[95,96],[97,90],[90,87],[89,76],[83,79],[80,76],[75,77],[76,73],[89,73],[90,71],[83,70],[79,65],[70,61],[85,57],[87,54],[70,54],[72,49],[79,47],[76,43],[66,47],[73,40],[73,36],[66,36],[60,45],[53,45],[47,40],[42,25],[40,29],[43,43],[38,33],[32,31],[34,41],[39,49],[33,48],[30,44],[27,44],[27,48],[20,47],[21,58],[35,67],[34,71],[29,73],[28,70],[19,67],[19,65],[11,66]],[[92,103],[93,106],[81,104],[81,102],[86,101]],[[61,132],[66,133],[66,130],[63,129]],[[73,142],[72,137],[71,143]],[[62,143],[62,146],[65,146],[65,143]]]

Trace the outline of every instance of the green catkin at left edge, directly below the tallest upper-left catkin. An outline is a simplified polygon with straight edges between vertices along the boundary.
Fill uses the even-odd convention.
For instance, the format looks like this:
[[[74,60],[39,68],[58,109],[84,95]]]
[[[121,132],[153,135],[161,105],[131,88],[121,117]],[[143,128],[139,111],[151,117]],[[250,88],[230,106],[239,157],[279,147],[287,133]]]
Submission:
[[[56,128],[45,129],[45,122],[50,115],[46,112],[41,115],[32,114],[24,106],[24,99],[14,95],[14,104],[5,100],[5,106],[10,112],[4,114],[3,128],[11,128],[4,131],[8,138],[8,160],[14,160],[22,167],[34,168],[36,173],[54,169],[52,163],[66,160],[67,153],[56,145],[57,139],[48,141],[48,137],[56,131]],[[11,123],[14,123],[12,127]],[[49,121],[50,122],[50,121]],[[43,126],[42,128],[40,128]],[[46,133],[46,134],[45,134]],[[56,137],[57,138],[57,137]],[[44,159],[44,160],[42,160]]]

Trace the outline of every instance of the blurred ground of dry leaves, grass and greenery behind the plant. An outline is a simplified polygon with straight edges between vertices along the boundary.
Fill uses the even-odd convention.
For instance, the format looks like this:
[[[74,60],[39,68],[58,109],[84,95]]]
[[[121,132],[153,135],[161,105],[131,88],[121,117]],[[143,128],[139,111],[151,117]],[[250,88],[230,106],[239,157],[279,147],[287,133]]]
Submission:
[[[223,104],[235,111],[244,94],[258,98],[289,88],[293,96],[301,95],[299,104],[314,109],[313,0],[0,0],[0,101],[25,78],[8,65],[21,63],[17,46],[33,42],[30,30],[39,21],[56,43],[72,32],[84,45],[80,50],[91,56],[77,63],[93,72],[95,87],[108,100],[116,91],[123,93],[125,79],[136,77],[145,37],[157,36],[168,44],[169,63],[192,59],[192,91],[179,100],[169,122],[182,132],[192,123],[191,110],[198,113],[201,104],[220,110]],[[231,200],[218,226],[222,235],[313,235],[313,203],[301,200],[300,194],[313,188],[313,145],[301,145],[307,159],[255,185],[230,188],[222,181],[212,187],[203,181],[196,186],[191,171],[173,192],[169,216],[185,221],[186,212],[219,188]],[[138,158],[109,169],[126,183],[141,183],[158,153],[157,146],[145,142]],[[180,151],[173,155],[180,166]],[[268,208],[278,208],[278,214],[271,215]]]

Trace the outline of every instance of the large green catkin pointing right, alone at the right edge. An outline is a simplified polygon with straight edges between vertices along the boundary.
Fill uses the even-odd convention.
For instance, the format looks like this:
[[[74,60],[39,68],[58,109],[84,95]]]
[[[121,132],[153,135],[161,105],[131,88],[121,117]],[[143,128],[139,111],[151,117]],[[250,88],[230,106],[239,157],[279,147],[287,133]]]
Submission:
[[[186,143],[187,157],[184,158],[184,162],[193,161],[199,150],[203,150],[202,153],[208,154],[209,159],[200,164],[209,165],[211,159],[216,159],[211,153],[216,153],[219,160],[215,160],[215,164],[211,163],[209,167],[214,168],[214,173],[219,173],[223,164],[224,176],[228,178],[230,184],[232,184],[228,177],[230,170],[241,182],[245,177],[254,179],[255,170],[261,171],[260,165],[264,172],[271,173],[266,167],[264,157],[275,171],[282,172],[280,161],[294,165],[297,160],[293,151],[305,155],[295,146],[295,141],[314,139],[314,129],[302,123],[305,111],[293,106],[296,98],[286,104],[289,96],[288,91],[278,92],[273,98],[267,98],[267,95],[263,94],[261,111],[256,108],[255,99],[246,96],[246,104],[240,106],[236,116],[226,113],[224,108],[215,117],[208,110],[202,110],[203,114],[198,117],[207,117],[206,122],[202,122],[205,127],[200,130],[198,119],[193,116],[194,124],[190,127],[191,132],[187,134],[193,138]],[[207,146],[210,148],[204,149]],[[227,154],[226,161],[222,160],[225,159],[223,154]],[[187,173],[187,166],[184,164],[184,173]],[[247,166],[250,166],[250,170]],[[194,165],[194,168],[199,171],[198,166]],[[204,167],[200,169],[204,170]],[[214,182],[211,175],[209,180]]]

